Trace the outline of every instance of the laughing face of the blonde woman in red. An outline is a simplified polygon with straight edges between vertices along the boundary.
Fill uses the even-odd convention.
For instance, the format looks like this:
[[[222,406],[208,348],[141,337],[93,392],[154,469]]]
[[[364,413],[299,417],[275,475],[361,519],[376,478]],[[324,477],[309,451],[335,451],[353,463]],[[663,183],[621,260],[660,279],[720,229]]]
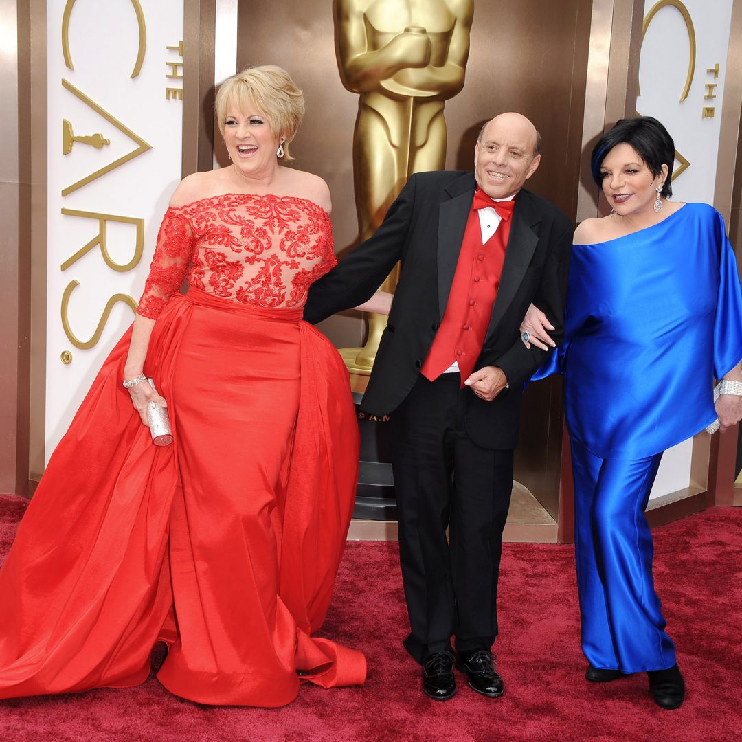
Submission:
[[[273,136],[266,116],[252,103],[246,105],[244,111],[236,105],[227,108],[224,142],[232,165],[240,174],[260,177],[277,166],[278,139]]]

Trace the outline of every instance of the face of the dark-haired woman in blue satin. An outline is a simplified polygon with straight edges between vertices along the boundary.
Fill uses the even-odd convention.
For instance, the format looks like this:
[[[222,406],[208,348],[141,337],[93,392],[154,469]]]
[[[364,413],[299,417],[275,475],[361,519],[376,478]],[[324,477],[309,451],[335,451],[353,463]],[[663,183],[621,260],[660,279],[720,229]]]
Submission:
[[[617,144],[600,164],[605,199],[622,217],[650,214],[657,200],[657,185],[662,188],[667,171],[667,165],[663,165],[662,172],[655,176],[630,144]]]

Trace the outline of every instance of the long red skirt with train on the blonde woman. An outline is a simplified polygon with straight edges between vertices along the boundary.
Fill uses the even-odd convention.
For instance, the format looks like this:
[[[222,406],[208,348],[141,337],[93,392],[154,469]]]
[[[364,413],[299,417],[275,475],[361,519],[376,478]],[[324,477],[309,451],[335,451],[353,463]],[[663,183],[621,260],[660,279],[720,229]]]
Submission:
[[[122,388],[131,330],[56,448],[0,570],[0,697],[158,678],[200,703],[282,706],[301,680],[363,683],[364,656],[311,637],[343,553],[358,467],[347,371],[301,310],[191,289],[145,373],[156,447]]]

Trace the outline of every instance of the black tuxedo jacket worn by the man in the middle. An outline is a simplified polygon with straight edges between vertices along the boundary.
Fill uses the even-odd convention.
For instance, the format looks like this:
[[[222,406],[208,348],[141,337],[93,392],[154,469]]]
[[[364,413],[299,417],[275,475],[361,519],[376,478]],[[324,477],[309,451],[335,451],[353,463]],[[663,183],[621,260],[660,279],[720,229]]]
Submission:
[[[304,319],[316,323],[367,301],[401,263],[387,328],[361,407],[392,413],[418,379],[446,309],[476,190],[473,173],[418,173],[390,206],[384,222],[338,266],[312,284]],[[487,402],[467,390],[467,434],[485,448],[513,448],[518,439],[523,382],[546,358],[526,349],[519,326],[533,302],[562,339],[571,221],[556,206],[521,190],[516,196],[505,263],[482,353],[475,370],[499,366],[510,388]]]

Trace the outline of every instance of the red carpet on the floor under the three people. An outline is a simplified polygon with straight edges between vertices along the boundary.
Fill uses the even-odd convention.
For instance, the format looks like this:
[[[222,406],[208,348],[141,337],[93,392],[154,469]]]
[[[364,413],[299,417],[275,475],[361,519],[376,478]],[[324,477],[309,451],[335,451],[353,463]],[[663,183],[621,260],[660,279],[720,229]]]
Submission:
[[[0,559],[25,501],[0,496]],[[506,544],[496,651],[505,696],[427,700],[401,648],[407,617],[390,543],[349,543],[324,635],[363,650],[362,688],[303,686],[283,709],[197,706],[151,677],[132,689],[0,701],[0,739],[255,742],[532,740],[697,742],[742,738],[742,508],[714,508],[655,531],[655,578],[686,677],[677,711],[654,705],[645,675],[582,677],[574,552]],[[2,607],[0,606],[0,610]]]

